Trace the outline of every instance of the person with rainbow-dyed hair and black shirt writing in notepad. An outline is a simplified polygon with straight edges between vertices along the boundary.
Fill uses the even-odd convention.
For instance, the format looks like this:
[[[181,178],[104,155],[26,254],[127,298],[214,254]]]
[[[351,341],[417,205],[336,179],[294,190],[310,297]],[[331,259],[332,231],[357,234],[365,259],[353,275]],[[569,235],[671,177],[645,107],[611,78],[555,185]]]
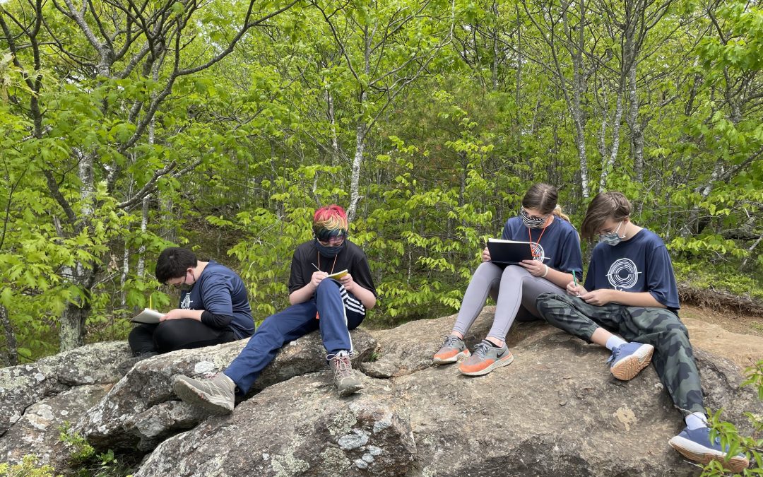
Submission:
[[[234,393],[245,395],[285,343],[319,329],[339,395],[351,395],[363,387],[350,363],[349,330],[358,327],[365,311],[376,304],[369,262],[360,247],[347,240],[347,216],[339,205],[315,211],[313,234],[313,240],[297,247],[291,259],[291,306],[262,321],[223,372],[200,380],[176,376],[175,393],[183,401],[216,414],[232,412]],[[327,278],[345,269],[341,278]]]

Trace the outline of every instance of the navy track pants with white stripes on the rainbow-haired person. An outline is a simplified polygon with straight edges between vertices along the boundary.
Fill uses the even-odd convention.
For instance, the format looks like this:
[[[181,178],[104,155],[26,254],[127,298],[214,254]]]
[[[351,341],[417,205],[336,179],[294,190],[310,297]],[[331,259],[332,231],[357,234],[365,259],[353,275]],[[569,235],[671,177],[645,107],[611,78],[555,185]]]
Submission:
[[[319,320],[315,319],[316,313]],[[324,279],[310,301],[291,305],[262,321],[224,373],[233,379],[241,394],[246,394],[285,343],[311,331],[320,329],[320,337],[329,354],[352,351],[349,330],[359,327],[364,317],[365,308],[357,298],[346,292],[340,282]]]

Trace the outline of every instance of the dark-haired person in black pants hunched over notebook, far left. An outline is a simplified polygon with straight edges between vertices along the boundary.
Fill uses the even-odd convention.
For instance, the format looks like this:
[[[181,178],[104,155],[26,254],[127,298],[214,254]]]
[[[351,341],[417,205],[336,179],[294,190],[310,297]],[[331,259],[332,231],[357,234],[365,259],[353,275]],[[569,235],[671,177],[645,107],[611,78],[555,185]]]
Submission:
[[[156,279],[181,288],[179,306],[160,317],[159,324],[140,324],[130,331],[127,341],[135,356],[130,366],[158,353],[228,343],[254,333],[246,286],[227,266],[201,262],[191,250],[169,247],[156,260]]]

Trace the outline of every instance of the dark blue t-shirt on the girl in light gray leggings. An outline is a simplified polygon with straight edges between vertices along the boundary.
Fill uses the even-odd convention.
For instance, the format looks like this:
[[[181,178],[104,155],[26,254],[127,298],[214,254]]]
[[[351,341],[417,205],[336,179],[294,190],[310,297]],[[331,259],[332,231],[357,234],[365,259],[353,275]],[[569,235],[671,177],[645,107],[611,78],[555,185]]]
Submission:
[[[525,227],[521,218],[512,217],[506,221],[501,238],[536,243],[536,259],[541,259],[542,263],[560,272],[571,273],[575,270],[578,279],[583,279],[583,257],[580,253],[578,230],[565,219],[554,215],[554,221],[544,231],[541,228],[529,229]]]

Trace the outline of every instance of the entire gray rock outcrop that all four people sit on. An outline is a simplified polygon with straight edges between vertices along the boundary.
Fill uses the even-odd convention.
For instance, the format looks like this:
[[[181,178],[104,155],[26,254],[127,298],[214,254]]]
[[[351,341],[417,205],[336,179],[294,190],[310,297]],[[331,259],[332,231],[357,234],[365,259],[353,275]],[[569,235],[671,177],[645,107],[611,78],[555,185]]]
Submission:
[[[478,317],[470,347],[487,334],[493,311]],[[57,427],[79,416],[76,430],[100,450],[149,453],[136,476],[697,475],[667,444],[683,420],[651,366],[619,382],[604,363],[607,350],[531,322],[511,331],[510,366],[467,378],[455,365],[431,365],[454,319],[353,331],[365,389],[341,399],[320,337],[308,335],[285,346],[224,417],[178,401],[172,377],[217,372],[245,341],[146,359],[113,387],[125,343],[2,369],[0,455],[17,462],[34,452],[65,468]],[[763,404],[739,389],[739,365],[763,359],[763,339],[740,341],[691,320],[687,327],[705,404],[749,431],[742,413],[763,414]]]

